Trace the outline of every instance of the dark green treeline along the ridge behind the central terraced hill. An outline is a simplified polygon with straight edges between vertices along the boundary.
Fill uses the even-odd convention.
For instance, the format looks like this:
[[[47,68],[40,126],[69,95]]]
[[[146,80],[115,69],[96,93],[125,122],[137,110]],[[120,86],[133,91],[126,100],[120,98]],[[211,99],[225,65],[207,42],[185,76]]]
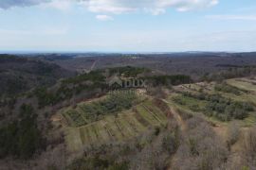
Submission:
[[[118,73],[124,76],[137,76],[138,74],[149,71],[145,68],[137,67],[117,67],[108,69],[111,74]],[[55,105],[66,99],[70,99],[80,93],[92,93],[99,90],[100,92],[107,92],[110,87],[107,85],[104,75],[105,70],[92,71],[90,73],[82,74],[80,76],[74,76],[66,78],[61,81],[61,84],[57,86],[55,90],[47,90],[46,87],[37,88],[34,90],[33,95],[38,98],[39,107],[43,108],[48,105]],[[123,75],[122,75],[123,76]],[[191,83],[192,78],[190,76],[176,75],[176,76],[145,76],[141,77],[145,79],[149,85],[153,86],[170,86]]]

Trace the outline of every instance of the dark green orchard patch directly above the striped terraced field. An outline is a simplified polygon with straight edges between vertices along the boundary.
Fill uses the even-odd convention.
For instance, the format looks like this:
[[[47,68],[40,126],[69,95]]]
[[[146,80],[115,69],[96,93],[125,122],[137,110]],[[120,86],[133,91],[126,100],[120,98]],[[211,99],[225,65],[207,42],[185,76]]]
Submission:
[[[121,110],[131,109],[137,99],[135,91],[117,91],[109,93],[99,101],[82,103],[75,109],[68,109],[64,111],[64,117],[70,118],[75,127],[81,127],[99,121],[106,115],[115,115]]]

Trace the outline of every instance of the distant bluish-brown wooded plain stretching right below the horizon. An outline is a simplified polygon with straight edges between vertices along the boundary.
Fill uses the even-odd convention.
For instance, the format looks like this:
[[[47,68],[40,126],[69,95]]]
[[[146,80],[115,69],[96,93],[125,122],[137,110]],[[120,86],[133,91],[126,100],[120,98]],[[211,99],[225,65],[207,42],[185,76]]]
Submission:
[[[82,71],[111,67],[144,67],[167,75],[189,75],[200,78],[244,66],[256,65],[256,53],[188,52],[163,54],[81,54],[78,58],[54,59],[52,62],[68,70]]]

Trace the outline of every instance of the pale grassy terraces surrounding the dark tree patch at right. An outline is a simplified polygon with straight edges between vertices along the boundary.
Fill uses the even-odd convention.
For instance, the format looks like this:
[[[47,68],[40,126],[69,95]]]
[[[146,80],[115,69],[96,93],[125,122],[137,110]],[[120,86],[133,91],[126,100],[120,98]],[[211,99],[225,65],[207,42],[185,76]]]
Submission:
[[[204,116],[205,119],[209,120],[214,124],[226,124],[225,122],[219,121],[213,116],[208,115],[209,102],[206,100],[201,100],[199,98],[190,97],[188,95],[183,95],[183,93],[208,93],[210,95],[220,95],[231,101],[245,102],[249,103],[254,107],[253,111],[248,111],[248,116],[239,120],[242,126],[248,127],[256,124],[256,82],[255,79],[249,78],[235,78],[226,81],[228,89],[217,90],[217,83],[194,83],[185,84],[174,87],[175,93],[171,93],[169,97],[169,102],[173,104],[176,108],[181,110],[186,110],[192,114],[198,114]],[[212,105],[211,105],[212,106]],[[213,105],[214,106],[214,105]],[[222,106],[221,106],[222,107]]]

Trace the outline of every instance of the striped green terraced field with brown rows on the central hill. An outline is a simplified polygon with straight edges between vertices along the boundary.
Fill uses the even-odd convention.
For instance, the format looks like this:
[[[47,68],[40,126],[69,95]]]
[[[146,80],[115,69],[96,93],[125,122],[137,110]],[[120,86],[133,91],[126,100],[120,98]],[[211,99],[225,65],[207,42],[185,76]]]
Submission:
[[[64,119],[67,122],[70,121],[68,117],[64,117]],[[165,113],[157,108],[153,101],[146,100],[131,110],[105,116],[100,121],[86,126],[72,127],[73,123],[70,122],[69,126],[64,127],[65,141],[69,151],[78,151],[93,144],[131,139],[151,127],[164,126],[166,123]]]

